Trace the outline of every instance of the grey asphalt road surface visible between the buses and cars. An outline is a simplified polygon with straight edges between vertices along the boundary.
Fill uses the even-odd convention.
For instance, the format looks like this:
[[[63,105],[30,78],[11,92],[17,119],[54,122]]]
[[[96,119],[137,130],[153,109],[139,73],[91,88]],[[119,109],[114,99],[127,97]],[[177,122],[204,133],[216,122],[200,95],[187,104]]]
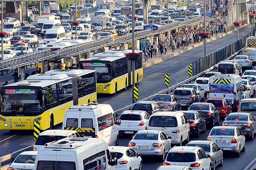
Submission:
[[[243,27],[239,29],[239,36],[243,37],[250,32],[251,27]],[[236,40],[236,32],[231,33],[225,37],[207,43],[207,53],[211,53],[215,50],[219,50]],[[165,89],[164,86],[164,74],[170,74],[170,86],[187,79],[187,66],[193,61],[198,60],[204,55],[204,47],[199,46],[186,51],[176,57],[165,60],[164,62],[154,64],[144,69],[144,78],[139,82],[139,99],[143,99],[149,95],[152,95],[160,90]],[[31,73],[35,68],[28,69]],[[1,77],[0,85],[6,80],[13,80],[12,73],[9,73]],[[104,104],[111,104],[114,110],[117,110],[123,106],[132,103],[132,88],[128,88],[126,91],[119,91],[117,95],[98,95],[98,102]],[[60,129],[61,124],[54,127]],[[191,137],[190,140],[205,140],[210,129],[207,129],[206,133],[201,133],[200,138]],[[131,136],[122,136],[120,138],[121,146],[128,146]],[[0,131],[0,156],[9,154],[31,144],[34,144],[32,131],[14,131],[9,130]],[[223,167],[217,167],[219,170],[243,170],[254,159],[254,141],[246,141],[246,152],[241,153],[241,157],[233,157],[232,154],[225,154]],[[2,164],[4,165],[4,164]],[[158,166],[162,165],[161,162],[156,162],[154,158],[143,157],[143,169],[156,170]]]

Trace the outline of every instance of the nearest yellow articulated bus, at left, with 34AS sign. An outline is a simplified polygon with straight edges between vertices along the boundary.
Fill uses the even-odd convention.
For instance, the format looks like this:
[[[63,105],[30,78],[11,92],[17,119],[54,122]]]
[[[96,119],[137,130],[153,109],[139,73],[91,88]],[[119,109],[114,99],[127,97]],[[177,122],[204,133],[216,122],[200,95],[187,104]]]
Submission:
[[[40,122],[40,130],[46,130],[63,122],[70,106],[96,100],[96,71],[89,72],[72,77],[38,74],[2,86],[0,130],[33,130],[35,121]]]

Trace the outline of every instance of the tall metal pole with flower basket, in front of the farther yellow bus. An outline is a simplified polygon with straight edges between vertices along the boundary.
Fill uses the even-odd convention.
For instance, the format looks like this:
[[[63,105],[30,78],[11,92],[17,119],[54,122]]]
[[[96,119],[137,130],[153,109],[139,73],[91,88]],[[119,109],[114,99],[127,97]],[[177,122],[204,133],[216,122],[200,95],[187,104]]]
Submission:
[[[134,53],[134,25],[135,25],[135,0],[132,0],[132,52]],[[132,103],[135,103],[134,99],[134,86],[135,86],[135,61],[132,60]]]

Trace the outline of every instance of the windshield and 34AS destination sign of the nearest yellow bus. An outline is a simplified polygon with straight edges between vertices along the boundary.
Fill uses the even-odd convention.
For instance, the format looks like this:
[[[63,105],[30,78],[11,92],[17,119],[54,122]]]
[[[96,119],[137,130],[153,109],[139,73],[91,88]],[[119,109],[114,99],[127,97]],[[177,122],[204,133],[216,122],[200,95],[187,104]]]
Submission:
[[[1,114],[3,116],[21,112],[38,115],[37,113],[42,112],[41,92],[38,89],[6,88],[2,90]]]

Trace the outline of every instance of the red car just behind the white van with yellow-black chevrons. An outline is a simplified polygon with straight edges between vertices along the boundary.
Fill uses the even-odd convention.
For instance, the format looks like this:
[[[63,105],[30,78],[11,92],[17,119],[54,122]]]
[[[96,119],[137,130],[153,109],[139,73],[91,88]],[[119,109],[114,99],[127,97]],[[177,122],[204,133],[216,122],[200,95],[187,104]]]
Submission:
[[[227,99],[210,98],[206,102],[212,103],[219,110],[220,117],[227,117],[227,115],[232,112],[232,106]]]

